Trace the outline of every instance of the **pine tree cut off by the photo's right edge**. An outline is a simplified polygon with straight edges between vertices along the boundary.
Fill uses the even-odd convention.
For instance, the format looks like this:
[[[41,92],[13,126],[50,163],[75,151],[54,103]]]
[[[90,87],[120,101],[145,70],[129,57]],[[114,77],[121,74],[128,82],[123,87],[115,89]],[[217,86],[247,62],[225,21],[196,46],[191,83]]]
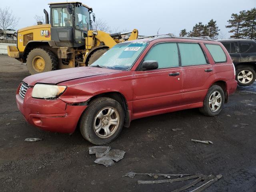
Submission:
[[[256,39],[256,8],[245,13],[242,27],[241,31],[244,38]]]

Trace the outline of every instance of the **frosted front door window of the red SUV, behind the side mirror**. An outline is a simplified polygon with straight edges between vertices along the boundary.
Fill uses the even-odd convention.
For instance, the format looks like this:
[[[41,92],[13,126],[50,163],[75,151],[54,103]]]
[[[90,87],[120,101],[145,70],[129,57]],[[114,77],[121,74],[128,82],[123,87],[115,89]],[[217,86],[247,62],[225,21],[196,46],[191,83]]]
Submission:
[[[158,68],[179,66],[179,54],[176,43],[156,44],[145,56],[144,61],[157,61]]]

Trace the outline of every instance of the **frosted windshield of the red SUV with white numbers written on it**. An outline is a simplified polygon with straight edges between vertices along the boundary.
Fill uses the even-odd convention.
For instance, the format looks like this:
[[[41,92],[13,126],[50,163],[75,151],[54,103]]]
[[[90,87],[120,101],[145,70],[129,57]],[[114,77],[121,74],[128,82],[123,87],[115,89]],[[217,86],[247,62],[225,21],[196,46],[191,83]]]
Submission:
[[[146,48],[148,42],[130,42],[115,45],[91,66],[128,70]]]

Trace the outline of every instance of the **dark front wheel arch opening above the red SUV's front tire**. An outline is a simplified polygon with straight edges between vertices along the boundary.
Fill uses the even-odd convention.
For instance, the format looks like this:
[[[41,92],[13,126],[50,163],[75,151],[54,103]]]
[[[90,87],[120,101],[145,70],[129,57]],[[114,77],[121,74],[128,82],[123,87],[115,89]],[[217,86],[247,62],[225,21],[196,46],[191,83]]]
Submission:
[[[112,98],[112,99],[116,100],[117,102],[119,102],[122,105],[122,107],[124,108],[124,113],[125,113],[124,126],[129,127],[131,120],[130,120],[130,113],[129,113],[129,110],[128,110],[128,104],[127,104],[125,96],[120,92],[104,92],[104,93],[95,95],[92,98],[90,98],[90,100],[88,100],[88,102],[87,102],[88,105],[90,105],[90,102],[92,102],[96,98],[100,98],[100,97]]]

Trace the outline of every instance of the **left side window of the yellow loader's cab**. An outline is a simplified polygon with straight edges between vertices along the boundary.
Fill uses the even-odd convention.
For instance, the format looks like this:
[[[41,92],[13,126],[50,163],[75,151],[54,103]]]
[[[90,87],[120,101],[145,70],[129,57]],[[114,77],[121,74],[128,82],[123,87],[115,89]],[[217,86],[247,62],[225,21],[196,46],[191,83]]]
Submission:
[[[64,7],[52,8],[52,25],[53,27],[72,26],[72,14]]]

